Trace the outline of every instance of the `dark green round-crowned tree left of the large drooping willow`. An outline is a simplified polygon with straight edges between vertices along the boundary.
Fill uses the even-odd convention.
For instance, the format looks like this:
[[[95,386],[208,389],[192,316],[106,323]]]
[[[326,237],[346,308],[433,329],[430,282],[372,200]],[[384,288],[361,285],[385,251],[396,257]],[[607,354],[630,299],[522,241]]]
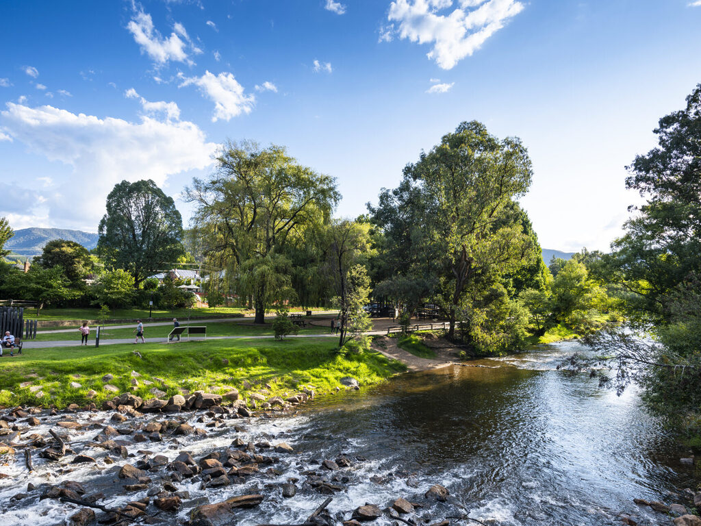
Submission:
[[[134,278],[134,287],[184,254],[182,217],[152,180],[116,184],[98,229],[104,259]]]

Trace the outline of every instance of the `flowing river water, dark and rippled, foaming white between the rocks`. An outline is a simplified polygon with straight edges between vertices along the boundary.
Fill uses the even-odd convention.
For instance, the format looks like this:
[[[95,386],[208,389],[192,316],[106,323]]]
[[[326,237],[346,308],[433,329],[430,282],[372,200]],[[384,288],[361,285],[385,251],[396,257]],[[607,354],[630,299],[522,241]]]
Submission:
[[[320,461],[346,454],[353,459],[350,468],[326,472],[335,474],[334,483],[343,487],[328,508],[337,518],[341,512],[349,518],[349,511],[362,504],[383,508],[404,497],[425,504],[418,518],[432,522],[466,513],[508,526],[616,525],[620,513],[629,513],[639,524],[671,524],[632,500],[682,501],[668,491],[692,485],[690,468],[679,464],[683,452],[663,422],[641,407],[634,390],[618,397],[599,389],[597,379],[588,375],[555,370],[559,360],[575,351],[581,351],[578,344],[565,342],[470,367],[402,375],[369,389],[320,397],[292,417],[252,420],[245,431],[235,431],[233,425],[240,421],[234,420],[208,430],[202,440],[148,443],[141,449],[170,460],[188,450],[197,458],[222,450],[234,436],[284,440],[294,447],[296,454],[275,464],[278,473],[261,473],[244,485],[203,490],[194,480],[179,484],[191,495],[180,520],[202,497],[216,502],[261,490],[264,503],[238,513],[237,524],[302,522],[326,497],[302,484],[303,472],[322,472]],[[191,422],[195,419],[193,415]],[[87,453],[98,457],[100,450]],[[7,504],[27,482],[84,480],[108,493],[104,488],[116,469],[57,473],[53,466],[36,468],[36,474],[27,475],[19,461],[0,466],[13,477],[0,480],[0,525],[65,520],[65,504],[39,503],[31,496]],[[277,485],[290,478],[299,480],[300,490],[283,499]],[[448,488],[446,503],[424,499],[433,484]],[[114,495],[103,504],[116,506],[144,495]],[[390,518],[374,522],[391,523]]]

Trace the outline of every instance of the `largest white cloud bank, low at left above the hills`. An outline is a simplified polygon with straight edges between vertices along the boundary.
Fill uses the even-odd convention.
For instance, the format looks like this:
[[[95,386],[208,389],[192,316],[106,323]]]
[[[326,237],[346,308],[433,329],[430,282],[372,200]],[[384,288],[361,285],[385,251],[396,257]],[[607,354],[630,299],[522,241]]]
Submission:
[[[153,179],[162,186],[170,175],[210,166],[218,147],[206,142],[203,131],[191,122],[144,116],[134,123],[51,106],[32,108],[12,102],[6,106],[0,112],[4,132],[49,161],[72,167],[69,180],[56,180],[55,188],[44,194],[45,212],[29,207],[33,216],[17,217],[18,222],[39,221],[43,214],[53,226],[75,225],[94,231],[114,184]],[[83,223],[76,225],[78,220]]]

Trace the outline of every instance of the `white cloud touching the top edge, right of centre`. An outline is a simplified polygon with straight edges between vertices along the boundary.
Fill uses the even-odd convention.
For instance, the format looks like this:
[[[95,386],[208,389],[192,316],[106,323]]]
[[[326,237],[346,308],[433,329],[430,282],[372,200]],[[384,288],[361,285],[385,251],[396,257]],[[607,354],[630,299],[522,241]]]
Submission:
[[[388,20],[399,25],[400,39],[433,44],[428,58],[451,69],[523,9],[517,0],[461,0],[454,9],[452,0],[395,0]]]

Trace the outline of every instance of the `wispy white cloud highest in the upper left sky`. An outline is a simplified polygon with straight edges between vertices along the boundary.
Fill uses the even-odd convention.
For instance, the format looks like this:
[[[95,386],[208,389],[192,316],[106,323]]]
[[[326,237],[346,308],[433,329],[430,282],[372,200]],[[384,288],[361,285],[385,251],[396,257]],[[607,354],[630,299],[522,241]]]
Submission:
[[[193,65],[190,53],[202,53],[193,45],[185,27],[176,22],[173,32],[165,38],[154,27],[154,20],[149,13],[144,13],[142,6],[134,4],[134,14],[127,25],[127,29],[134,36],[134,40],[141,47],[141,52],[149,55],[156,65],[164,65],[168,61],[184,62]]]

